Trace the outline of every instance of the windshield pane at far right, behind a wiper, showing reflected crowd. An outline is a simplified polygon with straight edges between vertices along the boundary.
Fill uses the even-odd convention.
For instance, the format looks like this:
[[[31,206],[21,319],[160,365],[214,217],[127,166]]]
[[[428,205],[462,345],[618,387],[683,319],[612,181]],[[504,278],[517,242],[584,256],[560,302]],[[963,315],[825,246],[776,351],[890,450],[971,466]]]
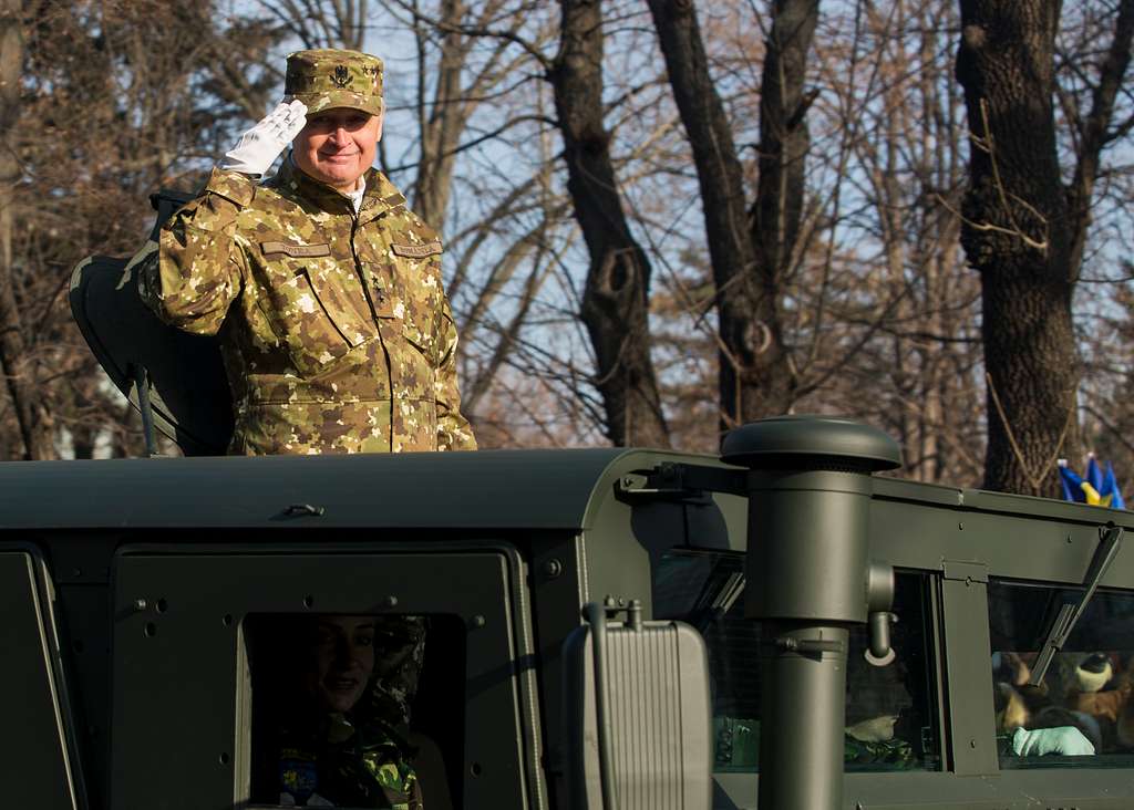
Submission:
[[[1134,594],[1099,589],[1032,685],[1052,622],[1082,588],[989,583],[992,697],[1002,768],[1134,761]]]

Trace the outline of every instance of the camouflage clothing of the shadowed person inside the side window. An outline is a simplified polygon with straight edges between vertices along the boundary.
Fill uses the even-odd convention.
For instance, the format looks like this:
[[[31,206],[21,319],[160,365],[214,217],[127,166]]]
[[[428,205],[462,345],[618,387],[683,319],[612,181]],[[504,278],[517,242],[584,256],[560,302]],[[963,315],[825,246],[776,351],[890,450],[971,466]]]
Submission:
[[[281,735],[280,803],[295,807],[423,810],[422,788],[409,765],[414,751],[391,726],[354,726],[332,715],[318,728]]]

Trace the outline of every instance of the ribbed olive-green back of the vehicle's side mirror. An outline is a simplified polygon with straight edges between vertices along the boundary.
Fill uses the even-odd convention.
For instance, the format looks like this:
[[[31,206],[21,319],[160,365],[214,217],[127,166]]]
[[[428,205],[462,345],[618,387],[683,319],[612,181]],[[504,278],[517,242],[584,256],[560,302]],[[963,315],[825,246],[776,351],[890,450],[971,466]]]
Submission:
[[[712,709],[704,640],[682,622],[609,621],[612,600],[584,608],[564,642],[568,807],[650,804],[708,810]],[[660,801],[665,798],[665,801]]]

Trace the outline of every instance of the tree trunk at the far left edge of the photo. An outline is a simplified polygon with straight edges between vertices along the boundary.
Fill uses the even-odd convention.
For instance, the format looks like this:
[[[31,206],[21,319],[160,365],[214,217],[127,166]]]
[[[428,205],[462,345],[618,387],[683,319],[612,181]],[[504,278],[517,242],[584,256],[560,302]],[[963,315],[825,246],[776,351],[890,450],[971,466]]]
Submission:
[[[25,459],[54,455],[51,430],[42,424],[35,367],[27,355],[24,325],[16,302],[12,229],[19,162],[11,144],[19,116],[19,79],[24,62],[20,0],[0,0],[0,365],[3,366]]]

